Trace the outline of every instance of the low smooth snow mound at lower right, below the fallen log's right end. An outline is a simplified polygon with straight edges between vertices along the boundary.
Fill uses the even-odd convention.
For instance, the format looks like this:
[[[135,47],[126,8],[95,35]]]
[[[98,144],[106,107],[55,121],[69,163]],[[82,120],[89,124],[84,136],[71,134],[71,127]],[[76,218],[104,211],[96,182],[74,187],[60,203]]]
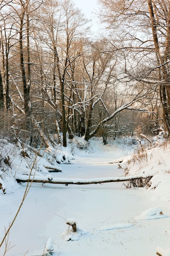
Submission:
[[[160,219],[160,218],[166,218],[168,217],[167,215],[163,214],[162,208],[161,207],[156,207],[156,208],[149,208],[141,215],[135,217],[135,219],[140,219],[140,220],[154,220],[154,219]]]

